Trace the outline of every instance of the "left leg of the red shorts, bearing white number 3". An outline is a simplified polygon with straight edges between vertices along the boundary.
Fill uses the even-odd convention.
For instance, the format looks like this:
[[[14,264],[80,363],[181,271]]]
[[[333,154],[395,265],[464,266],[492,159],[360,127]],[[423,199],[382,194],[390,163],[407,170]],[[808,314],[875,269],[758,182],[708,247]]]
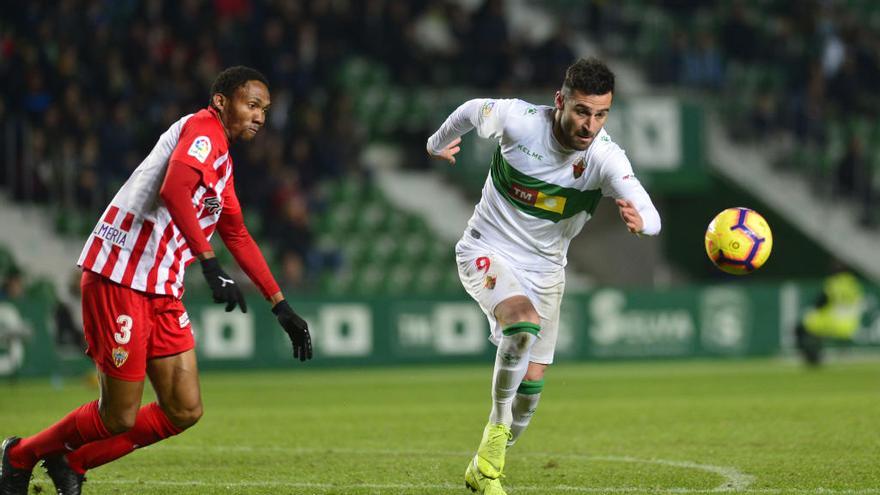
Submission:
[[[149,296],[89,271],[81,286],[86,354],[102,374],[142,382],[153,324]]]

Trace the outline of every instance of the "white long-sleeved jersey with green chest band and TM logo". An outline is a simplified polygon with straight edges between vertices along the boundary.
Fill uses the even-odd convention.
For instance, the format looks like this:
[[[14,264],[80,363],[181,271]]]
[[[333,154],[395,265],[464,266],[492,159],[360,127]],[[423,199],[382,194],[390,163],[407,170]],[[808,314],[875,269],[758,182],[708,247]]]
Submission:
[[[489,247],[524,269],[559,270],[602,196],[632,201],[643,234],[660,231],[660,215],[608,133],[602,129],[584,151],[566,149],[553,135],[553,116],[554,108],[522,100],[475,99],[429,138],[433,154],[473,128],[498,140],[482,198],[459,244]]]

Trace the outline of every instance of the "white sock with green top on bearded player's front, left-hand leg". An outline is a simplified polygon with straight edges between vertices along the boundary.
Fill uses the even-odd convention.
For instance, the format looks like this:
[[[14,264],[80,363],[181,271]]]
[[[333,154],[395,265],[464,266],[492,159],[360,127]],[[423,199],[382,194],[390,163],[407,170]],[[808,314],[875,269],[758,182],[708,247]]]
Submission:
[[[492,373],[492,412],[489,423],[513,423],[513,398],[529,368],[529,350],[541,327],[530,322],[514,323],[505,328],[495,354]]]

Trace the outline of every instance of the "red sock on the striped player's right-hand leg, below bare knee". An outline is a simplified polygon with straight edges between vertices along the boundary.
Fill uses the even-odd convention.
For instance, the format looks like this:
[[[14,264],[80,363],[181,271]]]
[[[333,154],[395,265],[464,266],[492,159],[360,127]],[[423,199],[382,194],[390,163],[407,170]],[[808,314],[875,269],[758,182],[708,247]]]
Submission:
[[[134,449],[152,445],[181,431],[183,430],[171,423],[159,404],[152,402],[138,411],[132,429],[83,445],[67,454],[67,464],[74,471],[85,474],[89,469],[107,464],[130,454]]]

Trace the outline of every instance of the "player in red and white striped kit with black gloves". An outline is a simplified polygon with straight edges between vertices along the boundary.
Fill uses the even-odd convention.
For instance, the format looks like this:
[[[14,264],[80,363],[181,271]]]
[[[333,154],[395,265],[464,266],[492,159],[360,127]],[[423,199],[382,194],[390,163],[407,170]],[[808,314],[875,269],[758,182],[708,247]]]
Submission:
[[[78,261],[100,399],[33,436],[6,439],[0,494],[26,495],[40,460],[59,494],[79,494],[86,470],[199,420],[195,342],[180,300],[185,267],[198,260],[214,301],[247,312],[238,284],[214,256],[215,231],[271,303],[294,357],[311,359],[308,326],[285,301],[235,195],[229,144],[252,139],[269,104],[262,74],[243,66],[224,70],[208,107],[162,134],[101,215]],[[158,400],[141,407],[147,376]]]

